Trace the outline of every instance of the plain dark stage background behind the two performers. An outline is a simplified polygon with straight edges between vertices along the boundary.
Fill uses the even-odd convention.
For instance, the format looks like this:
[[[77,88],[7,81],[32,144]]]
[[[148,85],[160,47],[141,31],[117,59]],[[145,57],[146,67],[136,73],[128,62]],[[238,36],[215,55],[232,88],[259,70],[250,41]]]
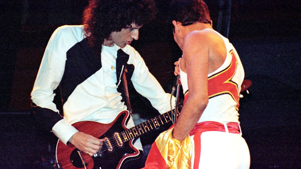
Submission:
[[[156,0],[157,18],[144,25],[139,40],[131,44],[167,92],[174,80],[173,63],[181,56],[166,18],[169,2]],[[219,1],[206,2],[216,29]],[[80,24],[87,0],[0,4],[0,168],[51,168],[57,140],[33,119],[30,92],[52,32],[58,26]],[[301,168],[300,2],[232,0],[231,8],[229,40],[240,55],[245,78],[253,82],[239,111],[250,168]],[[221,32],[226,35],[223,11]],[[133,88],[129,90],[136,122],[157,115]],[[141,137],[146,155],[163,130]]]

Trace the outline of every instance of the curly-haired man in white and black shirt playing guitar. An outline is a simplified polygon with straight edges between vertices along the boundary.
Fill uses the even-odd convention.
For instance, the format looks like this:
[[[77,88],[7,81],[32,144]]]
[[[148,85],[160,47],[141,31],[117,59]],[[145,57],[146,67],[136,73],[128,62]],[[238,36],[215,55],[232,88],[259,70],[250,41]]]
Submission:
[[[79,132],[71,124],[108,124],[127,109],[122,80],[125,66],[127,79],[138,93],[160,113],[170,110],[171,95],[163,91],[140,54],[130,46],[134,39],[138,40],[139,29],[153,16],[148,0],[90,0],[82,25],[65,25],[54,31],[31,99],[37,119],[64,144],[72,143],[90,156],[101,149],[103,139]],[[53,103],[53,91],[59,84],[64,117]],[[133,126],[130,118],[127,127]],[[142,151],[139,139],[134,146]]]

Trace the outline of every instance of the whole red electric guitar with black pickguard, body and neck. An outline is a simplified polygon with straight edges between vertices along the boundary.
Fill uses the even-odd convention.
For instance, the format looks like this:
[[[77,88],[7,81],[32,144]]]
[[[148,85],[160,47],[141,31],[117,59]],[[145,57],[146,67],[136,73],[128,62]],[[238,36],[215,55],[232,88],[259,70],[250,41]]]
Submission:
[[[178,112],[182,106],[179,106]],[[178,114],[178,113],[177,113]],[[57,168],[122,168],[126,161],[138,159],[140,152],[133,146],[134,138],[154,130],[172,121],[174,112],[166,112],[155,118],[142,122],[132,128],[126,128],[129,112],[121,112],[113,122],[102,124],[96,121],[80,121],[72,124],[78,131],[90,134],[96,138],[104,138],[101,150],[92,157],[80,151],[71,143],[67,146],[60,140],[56,148]]]

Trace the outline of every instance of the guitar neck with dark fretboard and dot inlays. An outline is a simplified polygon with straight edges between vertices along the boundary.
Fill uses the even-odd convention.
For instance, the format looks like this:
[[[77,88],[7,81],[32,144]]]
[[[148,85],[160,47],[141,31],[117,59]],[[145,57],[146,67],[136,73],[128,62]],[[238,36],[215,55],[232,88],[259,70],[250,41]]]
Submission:
[[[179,111],[181,111],[181,109],[182,109],[182,106],[179,106],[177,115],[179,114]],[[155,118],[144,121],[132,128],[129,128],[128,130],[121,132],[120,134],[124,138],[123,142],[129,141],[135,137],[141,136],[142,134],[147,133],[148,131],[154,130],[154,129],[160,127],[161,125],[172,121],[172,118],[174,118],[174,116],[175,116],[174,114],[175,114],[175,112],[173,112],[173,111],[163,113],[161,115],[158,115]]]

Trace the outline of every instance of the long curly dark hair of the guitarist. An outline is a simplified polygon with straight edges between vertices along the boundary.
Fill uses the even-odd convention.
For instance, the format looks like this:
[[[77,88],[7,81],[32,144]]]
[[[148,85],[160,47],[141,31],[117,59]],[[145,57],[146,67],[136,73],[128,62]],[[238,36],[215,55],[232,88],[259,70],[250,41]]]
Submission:
[[[83,12],[85,35],[90,46],[101,51],[111,32],[135,23],[141,26],[155,15],[151,0],[90,0]]]

